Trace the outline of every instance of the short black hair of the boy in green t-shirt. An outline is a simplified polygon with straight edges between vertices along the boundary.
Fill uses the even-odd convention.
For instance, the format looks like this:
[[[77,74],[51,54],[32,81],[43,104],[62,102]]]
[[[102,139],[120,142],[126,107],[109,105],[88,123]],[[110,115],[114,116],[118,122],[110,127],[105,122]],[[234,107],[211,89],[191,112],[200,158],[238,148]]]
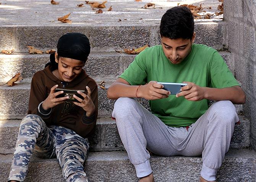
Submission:
[[[186,6],[175,6],[166,11],[160,24],[161,37],[170,39],[192,39],[194,33],[194,18]]]

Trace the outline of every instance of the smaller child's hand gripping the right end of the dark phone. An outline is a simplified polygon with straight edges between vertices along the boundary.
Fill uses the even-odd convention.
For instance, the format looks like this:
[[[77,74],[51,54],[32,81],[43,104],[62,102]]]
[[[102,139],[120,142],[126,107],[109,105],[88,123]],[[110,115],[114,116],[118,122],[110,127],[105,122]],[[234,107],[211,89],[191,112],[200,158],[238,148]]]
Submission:
[[[80,94],[81,96],[84,97],[84,100],[80,99],[76,95],[73,95],[73,97],[76,100],[78,100],[79,102],[81,102],[81,103],[74,102],[74,104],[82,107],[86,111],[86,116],[90,117],[95,112],[95,105],[94,105],[94,103],[92,102],[92,99],[91,99],[91,89],[88,86],[86,86],[86,89],[87,89],[87,92],[88,92],[87,95],[82,93],[81,91],[77,91],[78,94]]]

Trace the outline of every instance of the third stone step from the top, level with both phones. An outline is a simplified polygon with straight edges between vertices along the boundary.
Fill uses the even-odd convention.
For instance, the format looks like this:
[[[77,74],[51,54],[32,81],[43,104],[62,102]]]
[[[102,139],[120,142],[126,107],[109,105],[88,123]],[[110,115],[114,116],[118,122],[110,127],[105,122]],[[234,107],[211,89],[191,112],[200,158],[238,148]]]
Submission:
[[[97,83],[103,79],[95,78]],[[98,109],[102,114],[109,114],[113,110],[115,100],[107,98],[107,89],[114,80],[105,80],[105,89],[99,88],[98,91]],[[6,119],[21,119],[26,115],[28,110],[28,101],[30,93],[30,82],[21,81],[15,86],[0,86],[0,120]],[[138,101],[149,109],[148,101],[144,98],[139,98]],[[235,105],[237,113],[243,109],[242,105]]]

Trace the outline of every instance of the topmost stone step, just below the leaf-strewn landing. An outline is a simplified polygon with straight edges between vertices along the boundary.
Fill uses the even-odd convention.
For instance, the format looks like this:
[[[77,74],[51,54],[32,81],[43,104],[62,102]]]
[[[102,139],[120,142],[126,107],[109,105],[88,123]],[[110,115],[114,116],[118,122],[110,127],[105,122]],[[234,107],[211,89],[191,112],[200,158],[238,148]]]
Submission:
[[[1,27],[0,50],[14,48],[15,52],[27,52],[26,46],[43,51],[56,49],[58,38],[67,32],[81,32],[90,40],[91,51],[113,52],[115,49],[139,48],[160,43],[159,24],[123,26],[32,26]],[[217,50],[223,49],[225,22],[198,22],[195,24],[196,40]],[[0,39],[1,40],[1,39]]]

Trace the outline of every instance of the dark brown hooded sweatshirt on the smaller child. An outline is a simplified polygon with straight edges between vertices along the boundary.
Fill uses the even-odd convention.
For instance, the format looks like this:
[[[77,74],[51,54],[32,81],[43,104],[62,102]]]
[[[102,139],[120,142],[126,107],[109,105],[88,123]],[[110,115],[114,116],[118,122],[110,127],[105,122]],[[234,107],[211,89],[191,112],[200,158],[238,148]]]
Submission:
[[[95,105],[94,115],[86,117],[86,111],[71,101],[56,105],[47,116],[39,113],[38,105],[48,97],[54,85],[58,85],[58,88],[84,90],[86,94],[86,86],[89,86],[91,99]],[[84,70],[71,82],[61,81],[53,75],[50,66],[47,66],[44,70],[36,72],[32,78],[28,114],[39,115],[47,126],[63,126],[84,138],[89,137],[94,132],[98,115],[97,83]]]

